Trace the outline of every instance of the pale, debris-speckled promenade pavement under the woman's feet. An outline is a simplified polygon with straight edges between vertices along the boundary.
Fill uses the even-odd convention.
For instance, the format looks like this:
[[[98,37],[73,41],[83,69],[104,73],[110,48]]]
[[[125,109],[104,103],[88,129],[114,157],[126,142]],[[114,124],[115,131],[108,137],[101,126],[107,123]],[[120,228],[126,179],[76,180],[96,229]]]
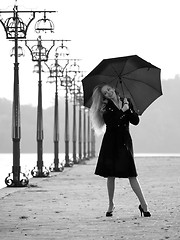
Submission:
[[[115,211],[105,217],[106,179],[94,175],[96,161],[1,189],[0,239],[180,239],[180,158],[135,158],[150,218],[140,216],[128,179],[116,179]]]

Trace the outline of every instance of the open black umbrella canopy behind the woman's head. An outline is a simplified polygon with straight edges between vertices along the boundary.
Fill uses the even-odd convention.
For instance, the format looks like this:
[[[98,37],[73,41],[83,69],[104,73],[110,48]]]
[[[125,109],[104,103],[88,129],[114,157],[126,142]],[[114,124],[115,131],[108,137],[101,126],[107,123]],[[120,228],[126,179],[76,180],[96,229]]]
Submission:
[[[162,95],[160,68],[137,55],[102,60],[83,80],[84,106],[91,106],[94,88],[102,83],[130,98],[135,111],[144,110]]]

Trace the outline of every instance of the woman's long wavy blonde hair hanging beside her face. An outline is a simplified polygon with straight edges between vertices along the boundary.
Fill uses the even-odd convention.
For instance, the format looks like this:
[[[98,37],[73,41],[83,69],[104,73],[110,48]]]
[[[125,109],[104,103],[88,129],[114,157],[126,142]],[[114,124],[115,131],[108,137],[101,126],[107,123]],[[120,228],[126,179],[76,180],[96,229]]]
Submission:
[[[100,134],[104,132],[104,119],[103,119],[103,111],[102,107],[104,103],[104,96],[101,92],[102,87],[106,84],[98,85],[94,88],[92,95],[92,105],[90,108],[90,116],[92,127],[94,128],[96,134]]]

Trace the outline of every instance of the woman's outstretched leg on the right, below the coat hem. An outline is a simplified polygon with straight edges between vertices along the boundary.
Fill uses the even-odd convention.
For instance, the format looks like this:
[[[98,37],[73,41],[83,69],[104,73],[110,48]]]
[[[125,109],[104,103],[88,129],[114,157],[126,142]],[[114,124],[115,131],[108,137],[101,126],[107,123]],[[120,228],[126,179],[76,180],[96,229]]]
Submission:
[[[139,184],[138,179],[136,177],[130,177],[129,182],[133,191],[135,192],[136,196],[140,201],[141,207],[144,209],[145,212],[147,212],[147,203],[142,193],[141,186]]]

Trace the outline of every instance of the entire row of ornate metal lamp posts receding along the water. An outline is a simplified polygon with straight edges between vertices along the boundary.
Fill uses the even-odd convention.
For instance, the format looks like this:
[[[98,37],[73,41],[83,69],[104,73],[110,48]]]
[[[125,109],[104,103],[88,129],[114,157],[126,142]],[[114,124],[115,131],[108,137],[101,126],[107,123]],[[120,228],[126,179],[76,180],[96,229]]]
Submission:
[[[64,47],[62,40],[42,40],[41,36],[38,37],[37,40],[26,40],[27,30],[30,23],[35,19],[37,13],[43,13],[44,16],[42,19],[38,20],[35,25],[36,32],[40,33],[41,31],[50,31],[53,32],[54,24],[53,22],[46,17],[46,13],[53,13],[55,11],[19,11],[17,4],[14,5],[13,11],[0,11],[0,15],[2,14],[12,14],[12,17],[4,20],[2,17],[0,18],[0,22],[2,23],[4,30],[6,32],[6,38],[14,41],[14,94],[13,94],[13,109],[12,109],[12,140],[13,140],[13,167],[12,173],[8,175],[5,179],[6,185],[11,187],[24,187],[27,186],[29,180],[28,177],[21,172],[20,166],[20,139],[21,139],[21,123],[20,123],[20,100],[19,100],[19,63],[18,56],[20,47],[18,46],[19,40],[25,41],[25,45],[29,48],[32,61],[36,61],[39,74],[38,80],[38,107],[37,107],[37,166],[31,171],[33,177],[46,177],[49,175],[49,170],[44,167],[43,164],[43,113],[42,113],[42,62],[47,62],[48,55],[52,47],[55,45],[56,41],[61,41],[62,46],[61,50]],[[30,18],[28,23],[25,24],[23,20],[19,17],[19,14],[30,14]],[[30,43],[34,41],[37,42],[37,45],[30,46]],[[46,49],[42,45],[43,42],[50,42],[51,45],[49,49]],[[57,48],[58,49],[58,48]],[[90,121],[88,121],[88,151],[86,152],[86,109],[84,108],[84,145],[83,145],[83,154],[82,154],[82,93],[79,90],[75,90],[75,78],[76,75],[80,72],[79,70],[67,70],[67,64],[69,63],[69,59],[65,67],[58,65],[58,54],[56,49],[55,55],[55,108],[54,108],[54,171],[62,171],[62,164],[59,163],[58,153],[59,153],[59,119],[58,119],[58,77],[60,74],[60,82],[63,87],[65,87],[65,167],[70,167],[74,163],[80,162],[82,159],[90,158],[95,156],[95,139],[94,132],[91,129],[91,138],[90,138]],[[78,67],[76,62],[74,62],[74,67]],[[70,77],[69,73],[74,73],[74,77]],[[51,72],[50,72],[51,76]],[[73,82],[73,159],[69,158],[69,115],[68,115],[68,93],[70,87],[72,87]],[[70,85],[68,85],[70,84]],[[76,155],[76,102],[79,103],[79,158]],[[88,113],[89,118],[89,113]],[[90,143],[91,141],[91,143]],[[90,144],[92,146],[90,153]]]

